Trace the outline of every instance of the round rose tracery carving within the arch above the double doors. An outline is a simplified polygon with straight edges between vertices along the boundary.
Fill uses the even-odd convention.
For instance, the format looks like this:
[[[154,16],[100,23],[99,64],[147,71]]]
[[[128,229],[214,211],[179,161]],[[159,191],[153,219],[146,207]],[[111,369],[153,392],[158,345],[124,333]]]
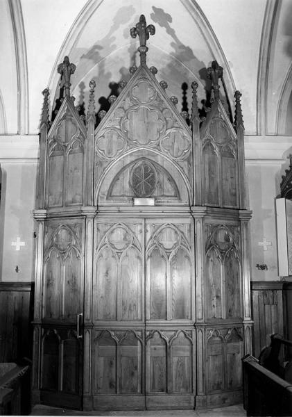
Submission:
[[[155,168],[147,162],[138,163],[132,169],[130,184],[137,197],[150,197],[157,184]]]

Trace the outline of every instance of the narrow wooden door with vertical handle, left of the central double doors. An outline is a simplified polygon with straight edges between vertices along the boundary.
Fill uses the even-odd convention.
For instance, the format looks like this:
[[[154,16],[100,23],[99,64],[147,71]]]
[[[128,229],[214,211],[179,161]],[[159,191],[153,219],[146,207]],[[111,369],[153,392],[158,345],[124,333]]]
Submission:
[[[83,283],[83,220],[49,220],[42,287],[43,404],[82,407]]]

